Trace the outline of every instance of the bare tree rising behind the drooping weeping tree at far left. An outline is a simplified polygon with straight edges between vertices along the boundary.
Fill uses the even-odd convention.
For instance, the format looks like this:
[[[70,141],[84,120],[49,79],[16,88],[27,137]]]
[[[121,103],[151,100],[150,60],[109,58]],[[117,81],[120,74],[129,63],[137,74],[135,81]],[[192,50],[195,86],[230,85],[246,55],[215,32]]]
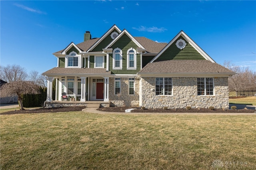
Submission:
[[[6,82],[24,81],[27,78],[26,69],[16,64],[1,66],[0,78]]]

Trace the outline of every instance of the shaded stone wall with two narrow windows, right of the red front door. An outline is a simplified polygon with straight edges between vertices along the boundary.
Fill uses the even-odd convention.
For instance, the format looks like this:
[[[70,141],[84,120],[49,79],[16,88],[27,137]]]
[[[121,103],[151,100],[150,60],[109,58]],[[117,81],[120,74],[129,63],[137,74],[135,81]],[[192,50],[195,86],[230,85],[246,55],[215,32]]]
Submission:
[[[109,78],[110,106],[138,106],[139,105],[139,80],[134,78],[134,95],[129,95],[129,78],[120,80],[120,98],[115,95],[115,78]]]

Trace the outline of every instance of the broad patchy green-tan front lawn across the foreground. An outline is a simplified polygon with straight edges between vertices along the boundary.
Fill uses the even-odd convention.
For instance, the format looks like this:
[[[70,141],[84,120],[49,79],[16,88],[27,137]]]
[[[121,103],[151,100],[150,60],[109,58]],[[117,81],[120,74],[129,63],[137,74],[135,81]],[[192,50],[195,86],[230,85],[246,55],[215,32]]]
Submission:
[[[0,115],[0,169],[252,170],[255,134],[256,115]]]

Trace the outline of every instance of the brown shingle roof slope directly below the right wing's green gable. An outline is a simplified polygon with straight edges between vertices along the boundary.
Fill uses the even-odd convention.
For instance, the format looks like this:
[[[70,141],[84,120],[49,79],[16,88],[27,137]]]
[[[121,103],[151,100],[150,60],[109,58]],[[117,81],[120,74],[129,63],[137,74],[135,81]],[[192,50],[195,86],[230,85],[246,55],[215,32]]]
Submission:
[[[207,60],[168,60],[148,63],[141,73],[234,73]]]

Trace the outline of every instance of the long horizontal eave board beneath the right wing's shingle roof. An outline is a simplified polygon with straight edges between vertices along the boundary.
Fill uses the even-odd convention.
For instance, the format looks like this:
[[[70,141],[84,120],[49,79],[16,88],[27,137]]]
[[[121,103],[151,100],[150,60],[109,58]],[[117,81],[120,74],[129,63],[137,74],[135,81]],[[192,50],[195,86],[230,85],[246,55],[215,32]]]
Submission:
[[[140,77],[230,77],[236,73],[141,73],[138,72],[138,76]]]

